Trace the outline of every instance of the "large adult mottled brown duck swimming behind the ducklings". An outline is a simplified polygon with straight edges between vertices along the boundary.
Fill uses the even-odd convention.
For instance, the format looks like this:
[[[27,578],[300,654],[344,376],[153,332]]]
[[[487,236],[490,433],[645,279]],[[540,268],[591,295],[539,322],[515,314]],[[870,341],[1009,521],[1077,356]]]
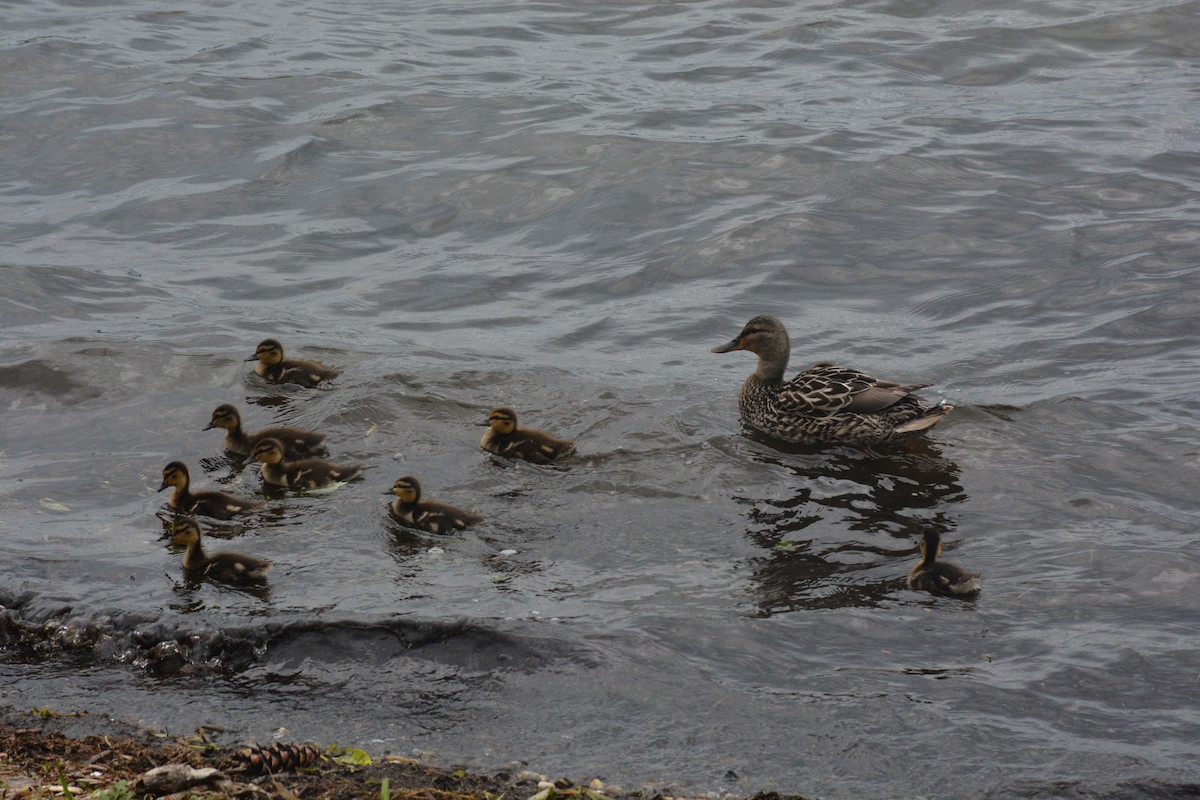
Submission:
[[[784,383],[791,356],[787,329],[755,317],[713,353],[750,350],[758,367],[742,384],[738,408],[746,425],[798,444],[870,447],[917,439],[954,407],[932,405],[912,392],[929,384],[896,384],[821,361]]]

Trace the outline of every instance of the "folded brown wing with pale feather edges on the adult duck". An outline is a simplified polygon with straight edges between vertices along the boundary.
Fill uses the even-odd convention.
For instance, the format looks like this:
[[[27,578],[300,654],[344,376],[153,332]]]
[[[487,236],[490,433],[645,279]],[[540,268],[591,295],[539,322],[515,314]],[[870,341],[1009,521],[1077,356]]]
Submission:
[[[929,384],[877,380],[865,372],[821,361],[786,383],[773,404],[792,414],[872,414],[925,386]]]

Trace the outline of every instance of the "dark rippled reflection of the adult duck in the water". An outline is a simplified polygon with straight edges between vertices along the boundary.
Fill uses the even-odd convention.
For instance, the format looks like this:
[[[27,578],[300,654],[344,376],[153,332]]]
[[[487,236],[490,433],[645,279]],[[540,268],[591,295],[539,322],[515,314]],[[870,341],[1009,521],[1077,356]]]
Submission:
[[[757,497],[734,497],[763,549],[751,559],[763,616],[881,604],[904,588],[913,541],[952,531],[949,512],[967,498],[958,464],[928,440],[870,457],[764,441],[750,455],[773,476]]]

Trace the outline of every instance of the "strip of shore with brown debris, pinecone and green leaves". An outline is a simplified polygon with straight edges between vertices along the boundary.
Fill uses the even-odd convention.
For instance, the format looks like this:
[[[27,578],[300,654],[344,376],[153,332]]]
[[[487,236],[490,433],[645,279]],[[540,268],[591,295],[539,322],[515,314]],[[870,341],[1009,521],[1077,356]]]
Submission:
[[[576,783],[524,770],[494,775],[434,766],[403,756],[373,757],[355,747],[275,742],[263,747],[212,741],[220,728],[173,735],[86,712],[0,706],[0,798],[148,796],[274,800],[736,800],[727,793],[677,794],[670,787],[626,790],[596,778]],[[164,765],[205,780],[155,786]],[[190,768],[190,769],[188,769]],[[214,774],[216,770],[216,774]],[[156,774],[157,775],[157,774]],[[804,800],[758,793],[749,800]]]

